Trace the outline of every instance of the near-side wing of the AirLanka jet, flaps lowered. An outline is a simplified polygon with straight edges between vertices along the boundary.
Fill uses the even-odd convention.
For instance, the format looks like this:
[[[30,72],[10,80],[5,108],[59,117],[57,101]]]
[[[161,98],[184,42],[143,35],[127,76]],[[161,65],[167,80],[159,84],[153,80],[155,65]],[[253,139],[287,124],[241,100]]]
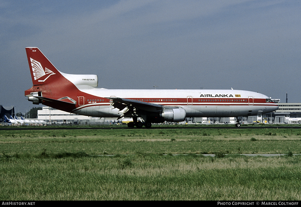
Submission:
[[[140,116],[144,113],[149,112],[158,112],[163,109],[163,105],[156,104],[156,103],[148,103],[144,101],[126,99],[126,98],[118,98],[118,97],[107,97],[111,99],[111,105],[114,108],[119,109],[119,111],[127,108],[123,112],[123,116],[120,116],[118,119],[123,117],[133,117],[133,116]]]

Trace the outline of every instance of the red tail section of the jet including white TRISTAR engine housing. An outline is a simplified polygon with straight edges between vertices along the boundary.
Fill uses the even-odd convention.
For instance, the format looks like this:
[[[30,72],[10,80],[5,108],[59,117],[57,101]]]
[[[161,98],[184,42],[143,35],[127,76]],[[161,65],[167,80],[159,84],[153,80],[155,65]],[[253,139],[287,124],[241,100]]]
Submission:
[[[76,108],[76,93],[79,93],[79,88],[97,87],[97,75],[62,73],[39,48],[25,49],[33,82],[33,87],[25,91],[25,96],[33,104],[43,103],[59,110],[71,111]]]

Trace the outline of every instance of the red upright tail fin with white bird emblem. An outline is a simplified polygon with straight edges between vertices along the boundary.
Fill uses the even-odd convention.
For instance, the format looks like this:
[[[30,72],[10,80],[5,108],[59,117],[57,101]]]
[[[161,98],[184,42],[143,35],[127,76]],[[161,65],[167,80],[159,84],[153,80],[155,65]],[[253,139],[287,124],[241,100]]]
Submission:
[[[29,47],[25,49],[33,85],[44,85],[46,82],[54,81],[55,75],[61,76],[39,48]]]

